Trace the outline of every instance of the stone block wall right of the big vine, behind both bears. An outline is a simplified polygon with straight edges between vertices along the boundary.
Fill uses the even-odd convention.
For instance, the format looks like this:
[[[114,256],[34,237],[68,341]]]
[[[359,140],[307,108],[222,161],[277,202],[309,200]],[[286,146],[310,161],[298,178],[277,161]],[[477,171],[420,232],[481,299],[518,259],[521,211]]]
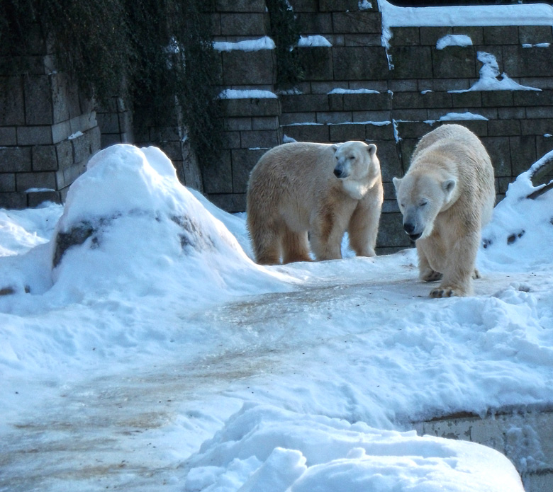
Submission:
[[[306,69],[298,91],[279,93],[275,88],[273,50],[220,52],[225,88],[261,89],[277,96],[248,97],[244,92],[244,98],[224,101],[224,159],[205,179],[205,191],[225,210],[245,210],[252,166],[283,139],[374,142],[385,188],[378,246],[386,253],[410,246],[391,178],[403,175],[416,142],[440,125],[440,119],[465,125],[481,137],[496,170],[498,200],[515,176],[553,149],[550,26],[392,28],[386,48],[376,1],[364,10],[357,0],[290,4],[302,36],[328,41],[328,46],[298,48]],[[214,40],[268,35],[262,0],[220,0],[218,6]],[[467,35],[472,45],[437,49],[437,41],[448,34]],[[540,91],[467,91],[484,66],[479,52],[495,57],[499,73]]]

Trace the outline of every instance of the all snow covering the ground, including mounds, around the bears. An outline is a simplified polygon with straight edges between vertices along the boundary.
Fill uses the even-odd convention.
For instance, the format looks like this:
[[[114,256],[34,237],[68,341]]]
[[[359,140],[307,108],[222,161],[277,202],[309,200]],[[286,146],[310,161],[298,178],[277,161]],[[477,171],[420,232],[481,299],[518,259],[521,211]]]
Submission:
[[[410,428],[553,403],[532,190],[496,207],[476,295],[430,299],[413,250],[256,265],[244,214],[159,149],[99,152],[65,207],[0,210],[0,488],[522,491],[498,452]]]

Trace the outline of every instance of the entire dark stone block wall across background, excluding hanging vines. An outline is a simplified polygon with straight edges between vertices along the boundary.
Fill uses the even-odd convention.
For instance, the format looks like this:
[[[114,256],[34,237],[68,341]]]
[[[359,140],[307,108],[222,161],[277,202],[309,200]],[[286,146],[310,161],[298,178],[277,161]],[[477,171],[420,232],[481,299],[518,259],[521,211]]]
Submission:
[[[267,149],[289,139],[361,139],[379,149],[385,202],[377,246],[386,253],[411,246],[391,178],[403,175],[418,139],[440,120],[460,122],[481,137],[495,166],[498,200],[518,173],[553,148],[551,26],[392,28],[384,47],[376,1],[289,2],[308,41],[298,47],[306,78],[294,92],[275,86],[277,57],[267,42],[231,49],[267,41],[264,0],[217,1],[213,40],[230,43],[216,45],[221,90],[237,92],[222,99],[220,160],[201,172],[177,108],[161,128],[147,104],[128,108],[113,98],[95,111],[43,50],[30,57],[28,74],[0,74],[0,207],[63,200],[94,151],[129,142],[159,146],[184,184],[224,210],[242,212],[247,178]],[[466,35],[472,44],[440,50],[437,41],[445,35]],[[467,91],[484,65],[493,71],[493,60],[498,74],[540,90]],[[493,78],[501,82],[501,75]]]

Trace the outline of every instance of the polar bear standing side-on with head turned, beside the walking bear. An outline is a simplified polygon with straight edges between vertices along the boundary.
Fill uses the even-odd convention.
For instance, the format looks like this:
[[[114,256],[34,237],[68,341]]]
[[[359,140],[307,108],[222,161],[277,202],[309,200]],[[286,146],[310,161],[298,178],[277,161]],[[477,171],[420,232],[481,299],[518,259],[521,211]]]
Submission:
[[[375,256],[384,192],[376,145],[291,142],[267,151],[250,174],[247,227],[262,265],[342,258],[345,231],[359,256]]]

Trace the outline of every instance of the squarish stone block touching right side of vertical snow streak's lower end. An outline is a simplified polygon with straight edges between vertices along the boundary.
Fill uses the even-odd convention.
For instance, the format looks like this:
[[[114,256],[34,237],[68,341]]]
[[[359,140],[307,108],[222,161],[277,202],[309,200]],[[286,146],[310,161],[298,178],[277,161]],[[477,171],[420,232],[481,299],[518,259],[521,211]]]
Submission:
[[[432,53],[428,46],[400,46],[389,50],[393,70],[393,79],[432,79]],[[387,62],[386,59],[383,60]],[[385,74],[384,67],[379,67],[376,73]],[[376,77],[375,77],[376,78]]]

